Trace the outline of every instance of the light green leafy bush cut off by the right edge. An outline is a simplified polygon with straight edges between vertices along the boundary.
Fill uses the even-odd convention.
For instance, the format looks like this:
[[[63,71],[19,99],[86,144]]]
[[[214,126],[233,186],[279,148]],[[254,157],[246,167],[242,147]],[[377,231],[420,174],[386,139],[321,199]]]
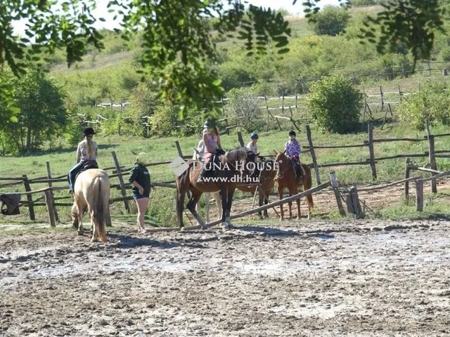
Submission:
[[[428,81],[398,108],[399,118],[417,130],[430,124],[450,125],[450,95],[444,82]]]

